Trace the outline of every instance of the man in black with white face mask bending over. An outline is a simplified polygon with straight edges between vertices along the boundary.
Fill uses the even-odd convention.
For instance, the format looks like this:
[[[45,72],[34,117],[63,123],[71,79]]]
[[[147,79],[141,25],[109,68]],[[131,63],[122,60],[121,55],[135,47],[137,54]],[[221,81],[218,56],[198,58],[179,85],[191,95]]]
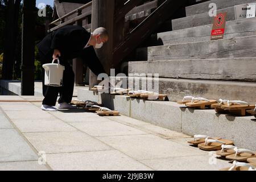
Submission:
[[[63,86],[53,87],[44,85],[43,74],[43,95],[42,110],[57,111],[57,96],[59,98],[59,109],[73,109],[69,105],[73,97],[75,74],[67,60],[80,57],[84,63],[95,74],[106,73],[94,48],[101,48],[109,39],[108,31],[100,27],[92,33],[87,32],[80,26],[64,26],[57,31],[47,35],[37,47],[41,64],[51,63],[59,57],[60,64],[64,65]],[[44,69],[42,68],[44,73]]]

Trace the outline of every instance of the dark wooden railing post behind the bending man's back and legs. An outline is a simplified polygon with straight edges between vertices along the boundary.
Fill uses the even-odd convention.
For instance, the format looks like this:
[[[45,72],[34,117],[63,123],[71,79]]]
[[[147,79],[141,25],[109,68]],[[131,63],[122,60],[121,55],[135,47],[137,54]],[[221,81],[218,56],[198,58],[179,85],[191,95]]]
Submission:
[[[81,15],[82,11],[77,11],[77,16]],[[76,25],[82,27],[82,20],[76,22]],[[83,62],[82,59],[76,58],[73,59],[73,71],[75,73],[75,84],[76,86],[84,86],[83,82]]]

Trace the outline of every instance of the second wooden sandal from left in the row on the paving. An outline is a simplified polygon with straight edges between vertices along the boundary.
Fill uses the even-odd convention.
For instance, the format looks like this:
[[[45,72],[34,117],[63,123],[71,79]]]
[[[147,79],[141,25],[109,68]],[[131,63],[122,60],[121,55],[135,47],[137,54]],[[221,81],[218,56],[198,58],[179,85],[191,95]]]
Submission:
[[[214,140],[214,139],[207,138],[207,139],[205,139],[205,143],[200,143],[198,145],[198,147],[201,150],[214,151],[214,150],[221,150],[222,144],[233,145],[234,143],[232,141],[226,140],[226,139]]]

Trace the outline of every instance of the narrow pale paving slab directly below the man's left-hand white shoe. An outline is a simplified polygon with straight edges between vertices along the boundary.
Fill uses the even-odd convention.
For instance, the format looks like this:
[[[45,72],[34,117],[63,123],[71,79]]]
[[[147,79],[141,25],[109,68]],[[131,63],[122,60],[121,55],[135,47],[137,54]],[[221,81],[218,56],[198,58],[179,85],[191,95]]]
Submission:
[[[6,111],[6,115],[10,119],[51,119],[53,115],[43,110],[36,111]]]

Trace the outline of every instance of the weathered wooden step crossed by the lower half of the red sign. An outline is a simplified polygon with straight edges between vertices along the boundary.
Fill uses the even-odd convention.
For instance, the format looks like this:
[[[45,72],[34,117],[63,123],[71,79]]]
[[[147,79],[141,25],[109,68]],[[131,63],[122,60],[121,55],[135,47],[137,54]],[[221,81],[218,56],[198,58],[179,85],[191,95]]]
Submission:
[[[182,30],[162,32],[151,36],[148,46],[165,46],[210,40],[212,24]],[[226,22],[224,39],[256,35],[256,17]]]

